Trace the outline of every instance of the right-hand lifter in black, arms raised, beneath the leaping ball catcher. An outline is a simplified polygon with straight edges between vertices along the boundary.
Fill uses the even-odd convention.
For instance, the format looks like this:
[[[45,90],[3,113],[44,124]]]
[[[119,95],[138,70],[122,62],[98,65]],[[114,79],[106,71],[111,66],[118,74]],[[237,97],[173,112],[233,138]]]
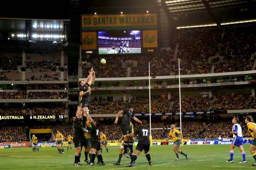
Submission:
[[[100,132],[100,122],[99,121],[93,121],[89,113],[87,113],[88,121],[92,125],[91,129],[91,152],[92,152],[92,163],[89,166],[95,165],[94,160],[96,158],[96,154],[98,158],[100,159],[100,165],[105,165],[102,155],[100,154],[100,138],[99,138],[99,132]]]

